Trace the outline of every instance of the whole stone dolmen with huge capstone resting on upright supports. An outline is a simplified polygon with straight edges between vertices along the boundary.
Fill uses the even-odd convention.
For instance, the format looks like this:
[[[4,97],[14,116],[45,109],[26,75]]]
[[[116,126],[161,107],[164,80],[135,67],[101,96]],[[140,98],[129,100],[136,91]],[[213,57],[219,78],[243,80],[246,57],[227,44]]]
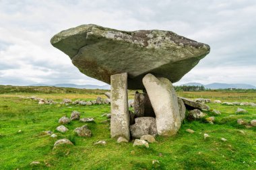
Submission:
[[[110,84],[110,133],[127,140],[143,134],[131,132],[135,126],[145,133],[177,134],[185,105],[194,105],[177,97],[172,83],[210,52],[207,44],[170,31],[126,32],[94,24],[59,32],[51,44],[67,54],[79,71]],[[135,93],[135,121],[131,121],[134,116],[129,112],[127,89],[143,90]]]

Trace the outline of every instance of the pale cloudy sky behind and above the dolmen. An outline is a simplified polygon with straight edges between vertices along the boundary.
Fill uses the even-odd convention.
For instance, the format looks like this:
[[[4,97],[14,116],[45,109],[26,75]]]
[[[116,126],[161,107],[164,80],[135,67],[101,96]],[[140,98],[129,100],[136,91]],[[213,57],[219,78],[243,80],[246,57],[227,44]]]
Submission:
[[[211,46],[174,85],[256,85],[256,1],[0,0],[0,84],[105,83],[87,77],[50,40],[61,30],[97,24],[117,30],[170,30]]]

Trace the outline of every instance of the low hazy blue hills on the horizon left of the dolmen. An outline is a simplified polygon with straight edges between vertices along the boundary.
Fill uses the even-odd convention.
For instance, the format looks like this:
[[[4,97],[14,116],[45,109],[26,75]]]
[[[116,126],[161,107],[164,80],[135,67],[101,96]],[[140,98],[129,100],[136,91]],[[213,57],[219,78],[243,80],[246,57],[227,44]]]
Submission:
[[[28,86],[54,86],[54,87],[72,87],[77,89],[110,89],[110,85],[75,85],[75,84],[55,84],[55,85],[47,85],[47,84],[34,84],[34,85],[28,85]]]

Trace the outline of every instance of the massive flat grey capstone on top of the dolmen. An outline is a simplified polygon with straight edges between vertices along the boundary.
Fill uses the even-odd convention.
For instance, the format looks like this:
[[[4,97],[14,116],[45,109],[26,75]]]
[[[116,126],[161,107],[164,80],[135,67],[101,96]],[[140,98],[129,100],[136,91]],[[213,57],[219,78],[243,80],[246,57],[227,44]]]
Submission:
[[[142,89],[147,73],[177,82],[210,52],[207,44],[170,31],[124,32],[93,24],[59,32],[51,44],[94,79],[110,84],[110,75],[128,73],[129,89]]]

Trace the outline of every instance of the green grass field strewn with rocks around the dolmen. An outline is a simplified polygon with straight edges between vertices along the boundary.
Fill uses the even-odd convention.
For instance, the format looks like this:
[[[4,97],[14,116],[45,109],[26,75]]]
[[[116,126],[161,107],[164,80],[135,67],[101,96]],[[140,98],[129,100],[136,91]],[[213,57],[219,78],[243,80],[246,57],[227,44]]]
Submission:
[[[158,142],[150,144],[150,148],[137,148],[133,147],[133,142],[117,144],[116,140],[110,138],[110,125],[102,123],[106,118],[101,116],[110,112],[110,105],[38,105],[34,100],[17,97],[34,95],[55,101],[64,98],[96,99],[98,95],[104,97],[104,91],[52,92],[5,91],[0,94],[0,169],[256,169],[256,128],[246,128],[236,123],[238,118],[247,122],[256,119],[255,107],[239,106],[249,113],[237,115],[235,111],[238,106],[209,103],[212,109],[222,112],[216,116],[215,124],[185,120],[176,136],[157,136]],[[179,95],[212,96],[213,99],[223,97],[223,101],[248,100],[256,103],[253,99],[256,98],[255,93],[207,91],[181,92]],[[239,96],[245,98],[239,99]],[[93,134],[91,138],[75,136],[73,130],[84,125],[78,121],[68,124],[69,132],[65,134],[55,130],[59,126],[59,118],[70,116],[73,110],[79,111],[82,118],[92,117],[96,121],[88,123]],[[212,112],[206,113],[213,115]],[[195,133],[185,132],[187,128],[195,130]],[[22,132],[19,133],[19,130]],[[55,132],[57,139],[69,138],[74,146],[63,146],[53,151],[57,139],[44,135],[44,130]],[[209,134],[210,138],[204,140],[204,133]],[[223,142],[220,138],[228,141]],[[97,140],[105,140],[106,146],[94,145]],[[160,164],[152,165],[153,160],[158,160]],[[32,167],[32,161],[40,161],[41,164]]]

